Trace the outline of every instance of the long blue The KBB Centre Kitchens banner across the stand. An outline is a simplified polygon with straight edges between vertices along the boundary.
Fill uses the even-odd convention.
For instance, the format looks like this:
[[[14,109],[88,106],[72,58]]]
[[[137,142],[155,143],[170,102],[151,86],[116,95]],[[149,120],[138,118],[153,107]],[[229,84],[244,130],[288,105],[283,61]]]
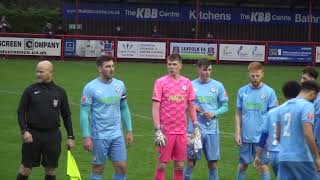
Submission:
[[[64,19],[75,19],[75,5],[64,3]],[[134,5],[80,3],[80,20],[123,20],[123,21],[181,21],[195,22],[194,6],[179,5]],[[320,24],[320,13],[308,17],[306,10],[200,7],[200,22],[232,24]]]

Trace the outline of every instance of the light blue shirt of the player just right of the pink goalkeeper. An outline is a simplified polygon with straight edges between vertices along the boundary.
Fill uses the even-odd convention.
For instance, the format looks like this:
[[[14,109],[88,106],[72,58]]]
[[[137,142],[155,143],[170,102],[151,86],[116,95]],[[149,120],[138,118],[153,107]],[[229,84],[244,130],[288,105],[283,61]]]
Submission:
[[[195,90],[196,99],[194,104],[203,109],[204,112],[214,112],[220,106],[228,101],[226,90],[222,83],[214,79],[210,79],[206,83],[201,83],[199,79],[192,81]],[[197,113],[199,128],[204,134],[219,133],[218,118],[212,118],[209,121],[203,116],[203,113]],[[188,121],[188,132],[193,131],[192,122]]]

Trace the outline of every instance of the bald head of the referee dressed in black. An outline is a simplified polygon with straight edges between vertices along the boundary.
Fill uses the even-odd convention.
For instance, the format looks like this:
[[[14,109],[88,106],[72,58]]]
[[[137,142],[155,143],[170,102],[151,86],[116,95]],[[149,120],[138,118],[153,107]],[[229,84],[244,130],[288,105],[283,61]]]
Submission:
[[[37,65],[38,82],[48,83],[52,80],[53,65],[50,61],[41,61]]]

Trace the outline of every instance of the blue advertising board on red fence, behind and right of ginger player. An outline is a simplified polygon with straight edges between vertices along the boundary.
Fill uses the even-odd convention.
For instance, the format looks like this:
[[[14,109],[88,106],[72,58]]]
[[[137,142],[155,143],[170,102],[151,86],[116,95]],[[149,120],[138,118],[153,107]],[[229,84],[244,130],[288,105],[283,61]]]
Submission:
[[[269,46],[269,62],[294,62],[294,63],[311,63],[312,47],[311,46]]]

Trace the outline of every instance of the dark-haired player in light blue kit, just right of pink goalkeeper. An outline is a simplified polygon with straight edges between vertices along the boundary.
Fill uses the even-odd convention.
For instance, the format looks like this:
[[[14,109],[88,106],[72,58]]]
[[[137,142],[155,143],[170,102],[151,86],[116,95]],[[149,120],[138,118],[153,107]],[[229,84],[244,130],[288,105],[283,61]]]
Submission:
[[[208,161],[209,180],[219,179],[217,161],[220,159],[220,137],[218,117],[228,111],[228,97],[222,83],[211,79],[212,65],[206,59],[197,63],[198,78],[192,81],[195,89],[195,106],[201,132],[202,150],[187,146],[188,164],[184,179],[191,179],[192,169],[196,161],[201,159],[202,152]],[[192,124],[188,123],[188,133],[192,132]],[[196,150],[196,152],[195,152]]]

